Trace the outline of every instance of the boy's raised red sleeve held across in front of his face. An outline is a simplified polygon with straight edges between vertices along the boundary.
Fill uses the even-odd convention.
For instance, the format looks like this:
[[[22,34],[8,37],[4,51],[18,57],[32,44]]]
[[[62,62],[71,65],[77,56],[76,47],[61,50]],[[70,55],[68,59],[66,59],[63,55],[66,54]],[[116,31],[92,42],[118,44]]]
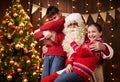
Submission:
[[[41,31],[45,30],[54,30],[54,31],[62,31],[64,28],[65,17],[62,17],[56,21],[50,21],[43,26],[40,27]]]

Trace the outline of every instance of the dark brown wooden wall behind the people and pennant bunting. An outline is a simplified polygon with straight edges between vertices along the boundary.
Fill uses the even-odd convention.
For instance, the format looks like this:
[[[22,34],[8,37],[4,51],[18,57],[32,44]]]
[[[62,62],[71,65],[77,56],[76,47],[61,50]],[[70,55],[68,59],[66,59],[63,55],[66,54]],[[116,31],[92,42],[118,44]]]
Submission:
[[[59,1],[59,4],[57,2]],[[100,2],[98,5],[97,2]],[[12,0],[1,0],[0,2],[0,24],[3,16],[5,15],[6,9],[11,6]],[[28,4],[30,2],[30,4]],[[48,4],[58,6],[61,12],[72,13],[79,12],[82,14],[94,14],[98,13],[100,9],[102,12],[107,12],[110,10],[110,7],[113,6],[115,9],[115,19],[107,13],[107,21],[104,22],[101,19],[98,19],[97,22],[103,26],[103,38],[104,41],[108,44],[111,44],[114,49],[114,57],[111,60],[104,61],[104,78],[105,82],[120,82],[120,12],[117,8],[120,7],[120,0],[21,0],[20,2],[31,18],[31,23],[34,26],[34,29],[39,28],[42,24],[41,18],[41,8],[39,8],[34,14],[31,14],[32,4],[37,4],[40,7],[47,8]],[[88,6],[86,5],[88,4]],[[75,8],[73,9],[72,6]],[[30,9],[27,11],[27,9]],[[86,12],[88,10],[88,12]],[[110,21],[110,23],[109,23]],[[91,16],[89,16],[87,24],[93,22]],[[111,30],[113,29],[113,30]],[[113,37],[112,37],[113,36]]]

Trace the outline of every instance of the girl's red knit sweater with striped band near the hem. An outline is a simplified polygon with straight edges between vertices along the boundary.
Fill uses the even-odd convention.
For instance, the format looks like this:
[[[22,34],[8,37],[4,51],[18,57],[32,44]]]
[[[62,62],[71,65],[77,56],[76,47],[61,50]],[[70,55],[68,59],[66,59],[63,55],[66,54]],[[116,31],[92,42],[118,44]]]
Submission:
[[[71,46],[75,50],[75,53],[67,61],[67,64],[73,65],[73,71],[82,76],[86,82],[92,76],[96,64],[101,57],[100,52],[90,51],[89,46],[93,43],[85,42],[79,47],[76,42],[72,42]]]

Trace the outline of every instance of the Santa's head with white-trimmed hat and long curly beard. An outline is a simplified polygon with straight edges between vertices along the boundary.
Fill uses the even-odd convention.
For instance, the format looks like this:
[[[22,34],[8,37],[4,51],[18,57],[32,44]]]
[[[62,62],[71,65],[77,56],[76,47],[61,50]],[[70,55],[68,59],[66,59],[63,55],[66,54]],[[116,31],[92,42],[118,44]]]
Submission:
[[[73,13],[66,17],[64,26],[63,33],[65,38],[62,46],[67,52],[67,57],[70,57],[74,52],[70,42],[75,41],[80,46],[85,41],[86,26],[83,17],[78,13]],[[67,39],[68,37],[71,38],[71,41]]]

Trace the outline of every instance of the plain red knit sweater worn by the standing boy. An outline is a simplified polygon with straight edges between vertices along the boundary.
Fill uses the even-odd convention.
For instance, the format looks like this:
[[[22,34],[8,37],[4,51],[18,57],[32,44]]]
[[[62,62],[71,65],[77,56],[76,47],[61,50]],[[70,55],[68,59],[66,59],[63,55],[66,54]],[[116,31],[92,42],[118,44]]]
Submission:
[[[53,45],[47,45],[48,51],[47,55],[52,56],[66,56],[66,53],[62,47],[62,41],[64,39],[64,34],[62,32],[64,28],[65,17],[62,17],[56,21],[50,21],[40,27],[40,31],[34,34],[36,39],[41,39],[43,37],[43,31],[50,30],[56,31],[56,38]]]

